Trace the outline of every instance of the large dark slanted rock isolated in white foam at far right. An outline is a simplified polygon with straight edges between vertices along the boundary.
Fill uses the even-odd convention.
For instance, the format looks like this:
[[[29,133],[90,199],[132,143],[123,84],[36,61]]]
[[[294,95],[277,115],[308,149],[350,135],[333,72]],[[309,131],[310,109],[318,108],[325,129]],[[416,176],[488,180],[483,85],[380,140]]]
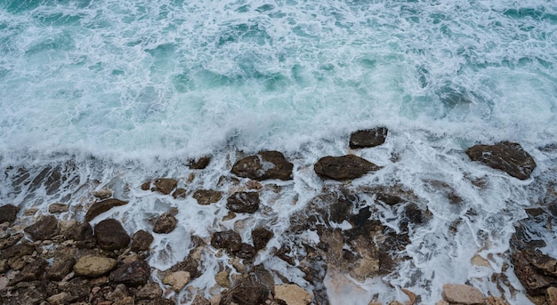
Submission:
[[[472,161],[478,161],[521,180],[529,179],[536,168],[534,158],[524,151],[520,144],[508,141],[495,145],[474,145],[466,149],[466,155]]]

